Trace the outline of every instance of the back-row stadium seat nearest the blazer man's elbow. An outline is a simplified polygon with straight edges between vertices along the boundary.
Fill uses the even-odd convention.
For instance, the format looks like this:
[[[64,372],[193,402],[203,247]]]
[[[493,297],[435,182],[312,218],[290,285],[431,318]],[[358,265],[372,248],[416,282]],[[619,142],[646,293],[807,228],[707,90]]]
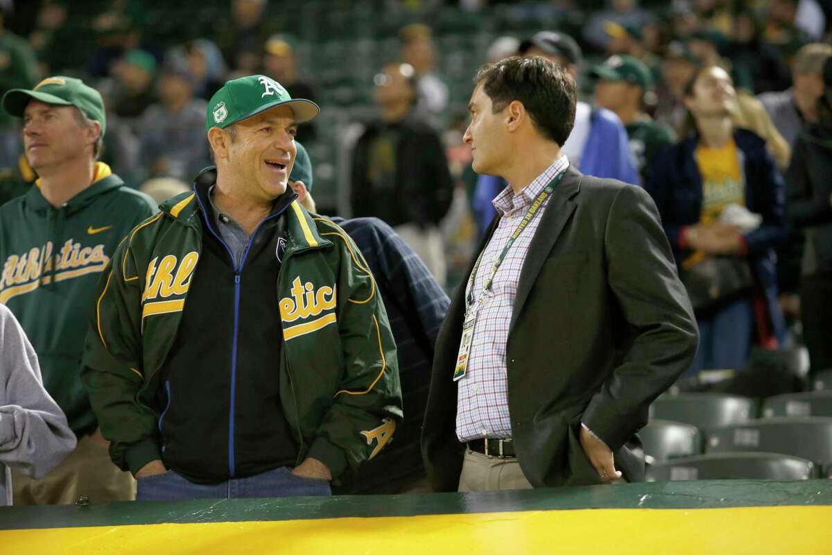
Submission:
[[[703,430],[746,422],[754,417],[754,399],[727,394],[663,395],[650,407],[651,420],[684,422]]]

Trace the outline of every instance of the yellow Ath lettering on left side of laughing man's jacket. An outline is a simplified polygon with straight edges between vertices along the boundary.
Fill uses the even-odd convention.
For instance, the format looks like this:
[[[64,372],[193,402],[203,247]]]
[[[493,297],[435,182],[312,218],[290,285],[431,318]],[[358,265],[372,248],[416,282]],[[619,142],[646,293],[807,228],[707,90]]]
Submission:
[[[175,255],[166,255],[159,260],[156,256],[147,265],[145,290],[141,294],[141,318],[151,315],[181,312],[185,308],[185,299],[169,299],[183,297],[191,287],[191,277],[196,269],[196,262],[200,254],[192,250],[182,260]]]

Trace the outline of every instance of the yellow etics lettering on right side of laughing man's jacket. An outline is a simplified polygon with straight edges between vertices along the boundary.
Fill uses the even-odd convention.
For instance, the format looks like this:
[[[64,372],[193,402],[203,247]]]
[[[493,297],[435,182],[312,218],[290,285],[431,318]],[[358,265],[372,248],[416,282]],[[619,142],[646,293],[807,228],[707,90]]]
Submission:
[[[331,287],[321,285],[316,288],[311,281],[301,284],[300,276],[297,276],[292,281],[292,288],[289,291],[292,296],[280,300],[280,320],[287,324],[296,320],[307,320],[312,316],[319,316],[324,310],[333,310],[338,304],[334,284]],[[334,324],[336,321],[335,313],[330,312],[303,324],[285,327],[283,337],[288,341],[300,335],[320,330],[325,326]]]

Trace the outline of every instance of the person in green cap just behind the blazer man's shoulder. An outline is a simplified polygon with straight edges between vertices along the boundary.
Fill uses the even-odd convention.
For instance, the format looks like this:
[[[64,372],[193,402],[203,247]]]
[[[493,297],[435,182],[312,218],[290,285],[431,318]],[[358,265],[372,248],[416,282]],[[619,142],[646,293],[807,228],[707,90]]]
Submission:
[[[621,118],[641,182],[645,183],[653,159],[675,140],[670,127],[653,121],[643,111],[644,95],[653,86],[650,70],[636,57],[616,55],[594,67],[592,75],[598,79],[595,102]]]

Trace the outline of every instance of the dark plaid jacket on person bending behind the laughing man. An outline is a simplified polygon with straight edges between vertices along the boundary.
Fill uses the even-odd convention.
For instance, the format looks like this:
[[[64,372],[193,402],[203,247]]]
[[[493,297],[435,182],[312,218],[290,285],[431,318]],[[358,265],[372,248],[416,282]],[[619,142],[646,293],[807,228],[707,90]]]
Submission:
[[[404,421],[378,457],[334,493],[399,493],[424,477],[419,448],[433,347],[451,300],[418,255],[378,218],[332,218],[358,245],[379,285],[399,353]]]

